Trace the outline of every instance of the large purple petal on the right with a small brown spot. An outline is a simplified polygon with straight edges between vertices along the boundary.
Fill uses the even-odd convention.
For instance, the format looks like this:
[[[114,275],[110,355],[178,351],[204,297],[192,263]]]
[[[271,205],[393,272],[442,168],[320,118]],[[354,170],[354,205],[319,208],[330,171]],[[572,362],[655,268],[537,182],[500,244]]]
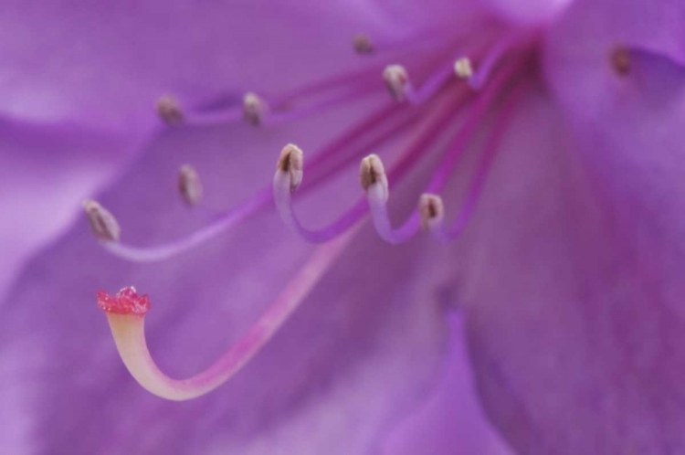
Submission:
[[[544,56],[561,109],[522,107],[470,230],[479,387],[523,453],[685,450],[683,11],[572,6]]]

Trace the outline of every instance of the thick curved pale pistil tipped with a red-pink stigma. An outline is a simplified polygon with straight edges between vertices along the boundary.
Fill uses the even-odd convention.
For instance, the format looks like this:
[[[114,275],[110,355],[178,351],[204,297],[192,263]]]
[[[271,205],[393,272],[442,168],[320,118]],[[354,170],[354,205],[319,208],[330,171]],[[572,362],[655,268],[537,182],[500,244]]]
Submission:
[[[226,354],[204,372],[187,379],[173,379],[154,363],[145,338],[145,313],[150,308],[147,296],[138,297],[133,288],[116,297],[98,294],[98,306],[107,315],[114,343],[126,368],[138,383],[157,397],[183,401],[201,397],[224,384],[279,331],[321,277],[340,257],[356,229],[342,238],[316,249],[298,275],[290,280],[247,333]]]

